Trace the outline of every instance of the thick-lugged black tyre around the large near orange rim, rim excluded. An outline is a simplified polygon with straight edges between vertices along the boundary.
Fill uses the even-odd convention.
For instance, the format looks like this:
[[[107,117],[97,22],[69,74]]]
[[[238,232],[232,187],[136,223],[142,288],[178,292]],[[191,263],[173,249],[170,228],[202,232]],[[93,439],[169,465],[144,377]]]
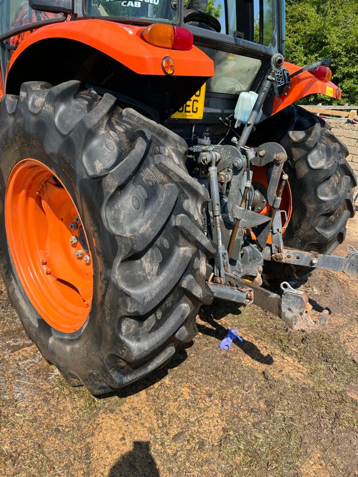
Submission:
[[[73,385],[102,395],[167,363],[197,333],[215,249],[203,232],[207,190],[189,176],[179,136],[78,81],[29,82],[0,102],[0,269],[10,301],[44,358]],[[40,316],[11,257],[4,202],[28,158],[51,169],[83,219],[93,299],[80,329]],[[16,220],[16,217],[7,217]],[[25,230],[26,242],[31,230]]]

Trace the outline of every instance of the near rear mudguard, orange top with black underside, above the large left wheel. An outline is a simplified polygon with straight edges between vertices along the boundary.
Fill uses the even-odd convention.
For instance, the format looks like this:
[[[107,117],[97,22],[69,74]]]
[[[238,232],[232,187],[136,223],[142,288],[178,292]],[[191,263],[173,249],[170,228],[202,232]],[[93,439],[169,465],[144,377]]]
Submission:
[[[214,64],[195,46],[179,51],[150,45],[140,36],[143,28],[105,20],[43,26],[12,55],[6,93],[19,94],[27,81],[76,79],[100,94],[118,93],[124,105],[163,122],[214,75]],[[171,75],[162,69],[168,56],[175,65]]]

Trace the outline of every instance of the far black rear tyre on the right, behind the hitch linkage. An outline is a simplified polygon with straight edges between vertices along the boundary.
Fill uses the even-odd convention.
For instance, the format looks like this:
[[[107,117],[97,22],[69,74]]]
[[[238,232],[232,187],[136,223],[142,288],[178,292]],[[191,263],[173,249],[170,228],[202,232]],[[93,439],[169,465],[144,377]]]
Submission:
[[[292,193],[292,216],[284,245],[331,254],[346,236],[354,217],[357,178],[347,163],[347,147],[326,122],[304,108],[291,105],[257,126],[257,145],[275,141],[284,146],[284,166]],[[265,262],[266,284],[302,278],[312,268]]]

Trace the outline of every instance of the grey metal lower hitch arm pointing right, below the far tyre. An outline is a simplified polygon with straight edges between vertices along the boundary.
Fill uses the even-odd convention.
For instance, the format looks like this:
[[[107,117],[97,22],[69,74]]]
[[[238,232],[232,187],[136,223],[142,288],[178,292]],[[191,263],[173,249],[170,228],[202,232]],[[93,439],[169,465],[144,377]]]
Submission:
[[[281,254],[272,256],[271,248],[266,247],[263,250],[263,259],[288,265],[343,271],[348,277],[358,279],[358,250],[349,245],[347,252],[347,257],[338,257],[337,255],[320,255],[318,252],[284,249]]]

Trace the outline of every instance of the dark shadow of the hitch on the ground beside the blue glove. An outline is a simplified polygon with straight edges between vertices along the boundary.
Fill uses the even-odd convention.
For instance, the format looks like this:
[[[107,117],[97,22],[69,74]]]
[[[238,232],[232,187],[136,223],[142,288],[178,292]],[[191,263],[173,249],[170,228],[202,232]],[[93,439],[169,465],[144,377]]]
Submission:
[[[210,327],[198,324],[198,330],[202,334],[206,334],[207,336],[211,336],[212,338],[216,338],[217,340],[221,341],[225,337],[227,333],[227,328],[222,326],[218,321],[220,318],[223,318],[228,313],[232,313],[235,315],[240,315],[241,311],[238,308],[238,305],[235,303],[228,303],[226,302],[225,309],[221,306],[220,300],[214,300],[211,306],[203,306],[199,310],[199,317],[201,321],[205,321],[208,323]],[[232,310],[230,310],[232,308]],[[215,320],[213,319],[215,316]],[[239,340],[234,340],[232,342],[233,345],[240,348],[245,354],[247,354],[253,361],[257,361],[258,363],[266,364],[270,366],[274,363],[274,358],[271,354],[264,355],[261,353],[259,348],[251,341],[244,340],[242,343]]]

